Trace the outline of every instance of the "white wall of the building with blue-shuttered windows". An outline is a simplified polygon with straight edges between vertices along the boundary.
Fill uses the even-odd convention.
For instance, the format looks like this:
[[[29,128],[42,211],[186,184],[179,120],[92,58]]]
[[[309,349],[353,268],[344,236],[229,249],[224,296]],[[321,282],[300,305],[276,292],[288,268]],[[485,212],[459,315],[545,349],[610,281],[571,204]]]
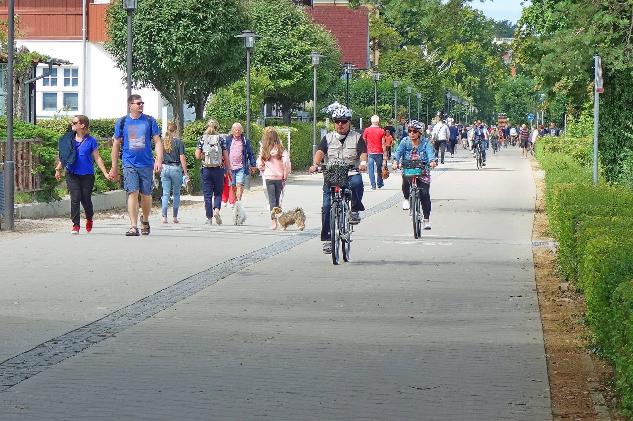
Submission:
[[[82,41],[35,41],[20,40],[18,46],[25,46],[30,51],[47,54],[53,58],[67,60],[72,66],[53,66],[58,69],[57,85],[44,85],[42,79],[37,80],[37,118],[54,118],[54,116],[73,116],[82,113],[84,104],[82,101]],[[125,73],[115,67],[110,55],[103,49],[100,42],[87,43],[87,75],[86,75],[86,104],[85,115],[89,118],[118,118],[125,115],[127,110],[127,88],[125,86]],[[41,75],[47,65],[37,66],[37,75]],[[77,86],[64,86],[64,69],[77,69]],[[44,110],[43,96],[57,94],[56,110]],[[64,110],[64,93],[78,94],[77,110]],[[153,89],[132,89],[133,94],[141,95],[145,104],[145,112],[159,118],[161,108],[166,104],[165,99]]]

